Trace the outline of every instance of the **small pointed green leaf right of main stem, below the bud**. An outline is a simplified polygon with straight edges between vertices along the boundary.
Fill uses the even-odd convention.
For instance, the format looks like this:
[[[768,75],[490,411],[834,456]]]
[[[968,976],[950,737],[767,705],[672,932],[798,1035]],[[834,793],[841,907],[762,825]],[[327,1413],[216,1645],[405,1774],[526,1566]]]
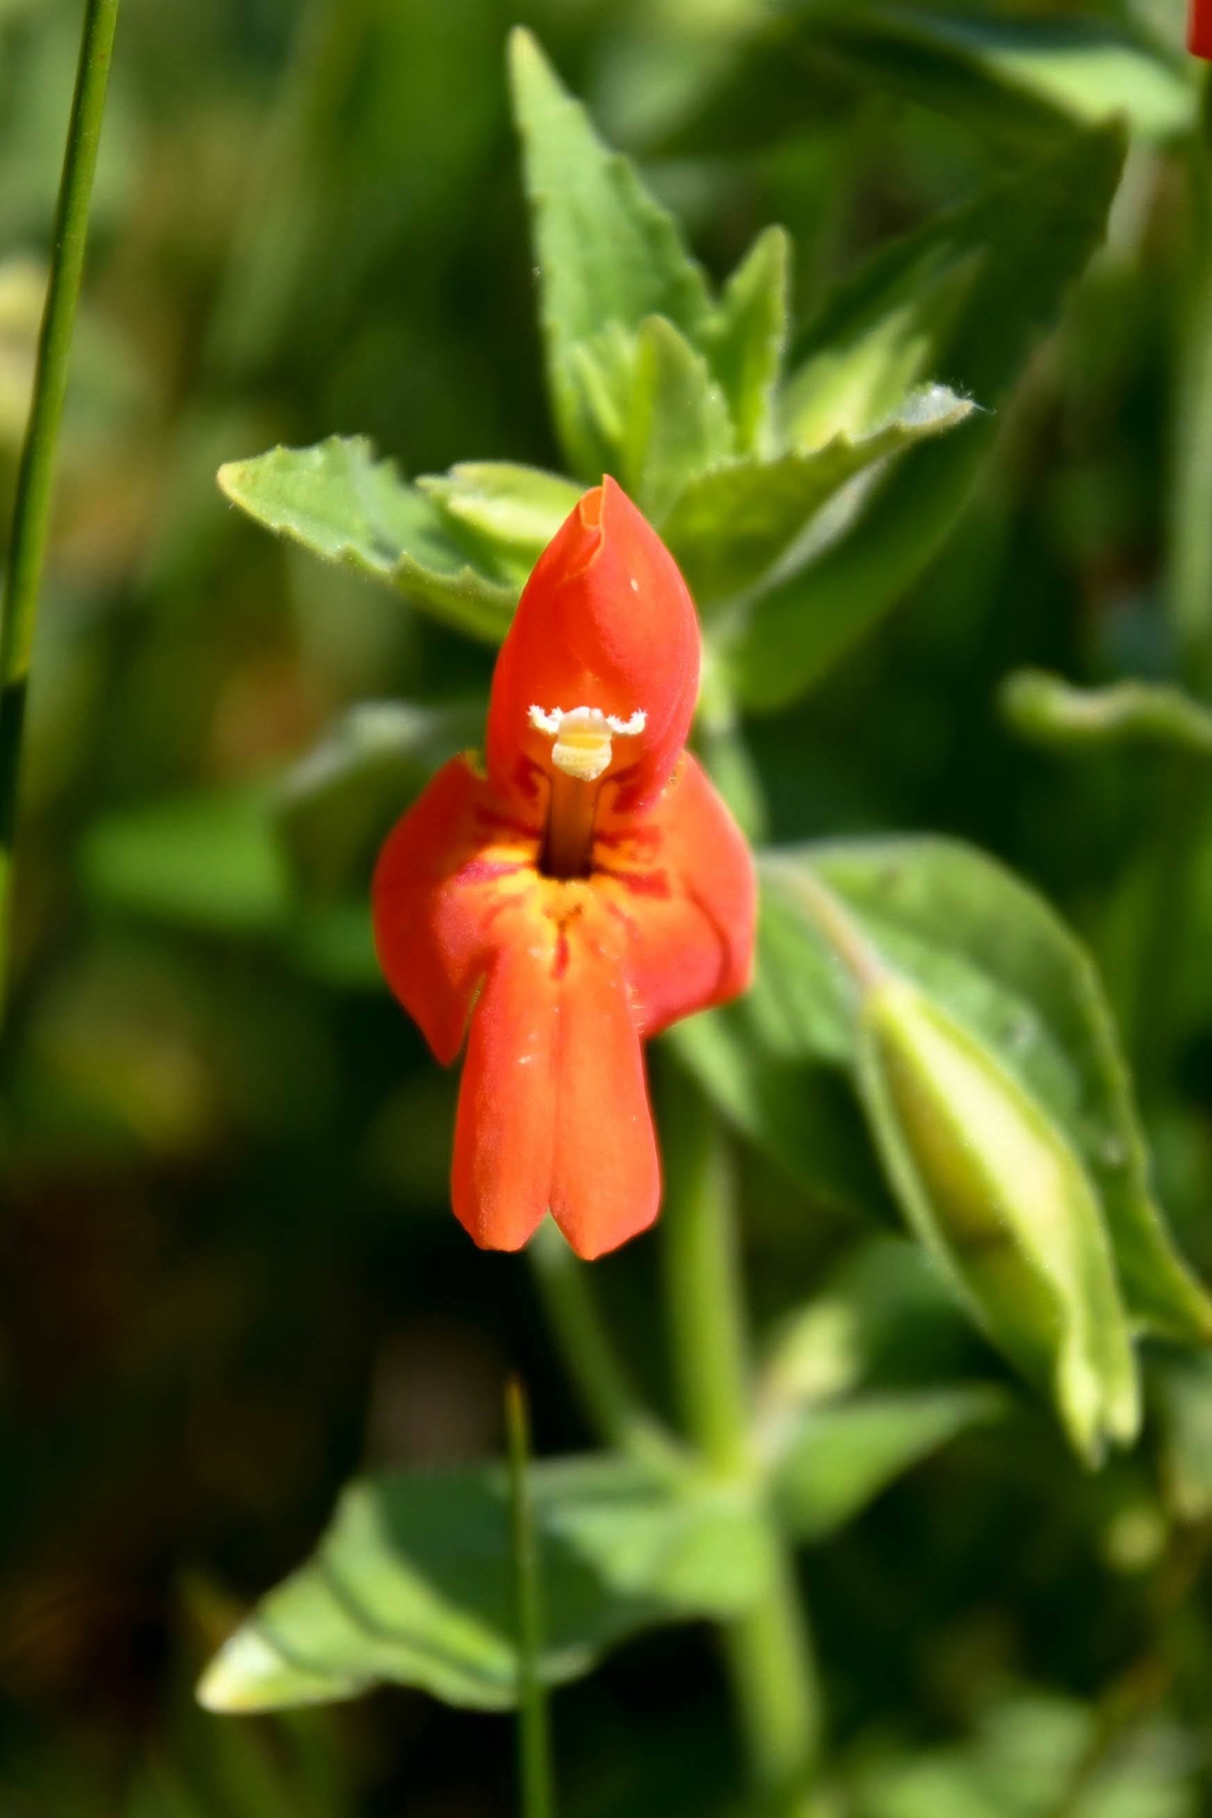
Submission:
[[[947,1440],[1005,1411],[972,1385],[869,1394],[805,1409],[783,1434],[774,1507],[798,1540],[827,1540]]]

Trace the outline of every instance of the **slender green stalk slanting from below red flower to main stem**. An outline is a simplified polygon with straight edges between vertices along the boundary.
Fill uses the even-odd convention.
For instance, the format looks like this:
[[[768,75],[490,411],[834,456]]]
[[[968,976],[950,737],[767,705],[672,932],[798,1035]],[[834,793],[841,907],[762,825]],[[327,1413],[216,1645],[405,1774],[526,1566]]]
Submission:
[[[556,1344],[592,1427],[632,1458],[678,1463],[678,1445],[645,1409],[611,1340],[589,1284],[591,1265],[576,1260],[551,1220],[531,1240],[529,1258]]]

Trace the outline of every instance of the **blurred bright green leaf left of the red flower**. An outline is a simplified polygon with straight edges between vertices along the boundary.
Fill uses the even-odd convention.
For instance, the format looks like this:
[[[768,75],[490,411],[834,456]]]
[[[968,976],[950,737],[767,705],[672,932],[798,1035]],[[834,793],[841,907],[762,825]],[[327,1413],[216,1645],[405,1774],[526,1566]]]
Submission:
[[[289,880],[265,787],[169,796],[96,822],[80,849],[100,902],[204,933],[282,927]]]

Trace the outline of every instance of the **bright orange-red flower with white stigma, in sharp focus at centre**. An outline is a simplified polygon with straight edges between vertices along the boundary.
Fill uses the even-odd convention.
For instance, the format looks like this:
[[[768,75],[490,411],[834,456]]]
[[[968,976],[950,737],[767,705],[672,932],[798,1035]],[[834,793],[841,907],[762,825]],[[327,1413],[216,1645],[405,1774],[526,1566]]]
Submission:
[[[752,862],[681,749],[698,665],[672,556],[603,480],[522,594],[487,767],[443,765],[380,856],[387,982],[443,1064],[471,1022],[451,1191],[485,1249],[547,1211],[580,1256],[652,1224],[643,1040],[749,982]]]

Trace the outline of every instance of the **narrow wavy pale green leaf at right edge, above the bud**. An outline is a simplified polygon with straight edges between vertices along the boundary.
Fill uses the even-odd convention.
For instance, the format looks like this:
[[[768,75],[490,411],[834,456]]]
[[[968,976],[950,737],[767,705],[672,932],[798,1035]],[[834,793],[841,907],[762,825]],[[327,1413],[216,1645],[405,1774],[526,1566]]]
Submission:
[[[1018,669],[1001,687],[1001,711],[1038,745],[1152,744],[1212,756],[1212,711],[1159,682],[1081,689],[1043,669]]]

